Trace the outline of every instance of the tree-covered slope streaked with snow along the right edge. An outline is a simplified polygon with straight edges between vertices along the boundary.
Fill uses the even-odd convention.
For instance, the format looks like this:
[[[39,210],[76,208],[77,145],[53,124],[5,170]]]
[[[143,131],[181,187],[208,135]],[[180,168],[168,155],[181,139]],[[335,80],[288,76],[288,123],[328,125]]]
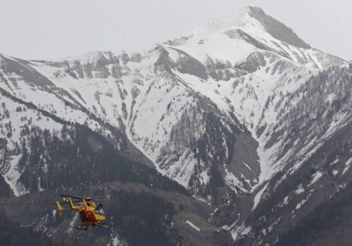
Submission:
[[[302,238],[292,245],[318,240],[302,231],[306,221],[325,216],[316,209],[328,209],[335,197],[343,200],[349,193],[351,81],[351,65],[332,67],[287,96],[295,104],[279,114],[275,131],[277,138],[284,138],[282,150],[293,153],[291,159],[252,195],[233,200],[213,215],[240,245],[285,245],[298,232]],[[314,223],[312,231],[322,233]]]

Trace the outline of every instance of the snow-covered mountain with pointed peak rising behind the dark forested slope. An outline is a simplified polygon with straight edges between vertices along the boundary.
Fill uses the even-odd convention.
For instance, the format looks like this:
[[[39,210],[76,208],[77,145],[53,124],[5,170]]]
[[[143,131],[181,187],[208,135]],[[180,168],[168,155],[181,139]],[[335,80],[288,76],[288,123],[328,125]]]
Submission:
[[[51,190],[55,160],[46,150],[28,181],[29,126],[70,141],[63,127],[80,124],[220,206],[212,221],[233,240],[271,244],[290,214],[298,214],[295,226],[312,211],[301,207],[349,181],[348,147],[325,149],[351,144],[340,136],[351,126],[351,73],[345,60],[252,6],[139,53],[1,55],[0,171],[14,195]],[[323,194],[330,180],[335,189]],[[273,201],[282,213],[270,212]]]

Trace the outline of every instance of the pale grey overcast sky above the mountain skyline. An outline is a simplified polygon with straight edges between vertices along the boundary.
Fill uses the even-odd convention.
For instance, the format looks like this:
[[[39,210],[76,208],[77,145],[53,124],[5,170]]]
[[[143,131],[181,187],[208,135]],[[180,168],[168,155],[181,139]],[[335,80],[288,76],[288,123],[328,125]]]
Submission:
[[[133,51],[254,5],[315,48],[352,59],[351,0],[0,0],[0,53]]]

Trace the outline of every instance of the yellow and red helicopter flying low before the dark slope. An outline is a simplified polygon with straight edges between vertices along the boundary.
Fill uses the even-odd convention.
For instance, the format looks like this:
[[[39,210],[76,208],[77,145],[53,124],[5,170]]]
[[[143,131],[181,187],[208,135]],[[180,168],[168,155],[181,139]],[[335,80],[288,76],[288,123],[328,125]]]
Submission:
[[[63,204],[68,204],[70,210],[78,212],[80,214],[81,224],[80,226],[75,226],[78,230],[87,231],[89,226],[100,226],[103,228],[108,228],[106,226],[106,215],[103,212],[102,205],[99,204],[97,207],[92,201],[92,198],[79,198],[73,195],[60,195],[63,198],[67,198],[68,202],[58,202],[54,203],[58,209],[58,214],[62,215],[64,210]],[[74,199],[74,200],[73,200]],[[79,202],[78,205],[75,205]]]

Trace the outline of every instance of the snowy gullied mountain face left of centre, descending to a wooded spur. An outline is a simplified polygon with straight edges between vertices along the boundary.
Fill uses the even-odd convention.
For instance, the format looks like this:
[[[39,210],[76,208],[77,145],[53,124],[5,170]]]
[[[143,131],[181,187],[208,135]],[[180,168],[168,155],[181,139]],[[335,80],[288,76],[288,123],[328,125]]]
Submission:
[[[126,56],[122,54],[121,60],[127,59]],[[171,60],[168,51],[163,47],[158,47],[151,54],[146,54],[144,60],[139,63],[130,62],[131,68],[126,65],[122,67],[118,58],[101,62],[104,58],[105,55],[98,52],[89,53],[87,56],[80,57],[80,60],[72,61],[75,65],[82,63],[83,67],[93,67],[91,72],[94,73],[94,77],[92,78],[87,72],[90,70],[83,72],[80,77],[73,76],[75,72],[79,73],[78,70],[72,70],[71,74],[67,73],[70,59],[63,63],[39,61],[25,63],[25,65],[30,64],[32,70],[35,68],[35,73],[40,71],[43,77],[51,79],[51,90],[58,93],[48,91],[46,85],[42,87],[33,85],[23,76],[20,79],[23,79],[24,83],[18,86],[18,82],[13,83],[8,78],[8,70],[4,70],[6,83],[3,86],[7,91],[11,91],[12,95],[34,103],[41,110],[49,111],[68,121],[86,124],[104,136],[113,138],[113,142],[120,149],[123,147],[121,141],[124,138],[120,135],[115,136],[116,133],[112,132],[111,127],[125,131],[128,138],[156,164],[159,171],[182,183],[194,194],[199,193],[203,197],[210,195],[209,201],[217,200],[215,194],[218,193],[218,188],[222,190],[224,186],[222,174],[219,172],[225,174],[227,168],[223,166],[224,162],[230,163],[233,160],[233,156],[229,155],[226,149],[233,148],[237,135],[241,135],[241,138],[249,138],[247,142],[253,147],[251,151],[254,155],[256,143],[251,143],[254,141],[251,140],[249,132],[239,125],[233,115],[229,116],[221,112],[217,105],[189,88],[182,78],[175,74],[178,65],[187,67],[189,62],[196,63],[196,60],[191,57],[189,57],[190,61],[184,62]],[[3,67],[11,67],[11,64],[8,65],[8,60],[11,60],[11,63],[15,60],[20,65],[23,63],[21,60],[5,57],[2,61]],[[151,65],[143,67],[141,63]],[[114,67],[119,67],[121,74],[116,75],[114,71],[117,68]],[[103,75],[100,70],[108,72]],[[24,95],[23,91],[30,92]],[[161,91],[164,92],[161,93]],[[43,93],[43,97],[34,96],[36,93]],[[46,99],[43,100],[43,98]],[[153,105],[158,105],[155,110]],[[215,123],[213,120],[218,121],[215,129],[210,127]],[[175,123],[171,124],[171,122]],[[106,127],[105,124],[111,127]],[[224,125],[221,130],[222,139],[213,138],[218,135],[220,131],[218,128],[222,125]],[[191,128],[187,129],[187,127]],[[208,156],[208,149],[218,143],[224,143],[224,147],[213,150],[213,153]],[[223,156],[222,159],[215,160],[219,155]],[[244,160],[253,162],[257,166],[253,167],[256,173],[249,174],[253,182],[259,174],[258,162],[254,158]],[[239,171],[237,173],[238,178],[230,177],[232,189],[236,190],[236,193],[250,190],[253,183],[249,186],[246,181],[239,181],[238,179],[242,179],[241,173]],[[213,179],[210,179],[210,177],[216,179],[215,176],[220,177],[218,183],[212,183]],[[209,186],[207,186],[208,182],[210,182]],[[232,193],[231,189],[225,188],[224,195],[220,195],[219,199],[227,196],[228,192]]]

